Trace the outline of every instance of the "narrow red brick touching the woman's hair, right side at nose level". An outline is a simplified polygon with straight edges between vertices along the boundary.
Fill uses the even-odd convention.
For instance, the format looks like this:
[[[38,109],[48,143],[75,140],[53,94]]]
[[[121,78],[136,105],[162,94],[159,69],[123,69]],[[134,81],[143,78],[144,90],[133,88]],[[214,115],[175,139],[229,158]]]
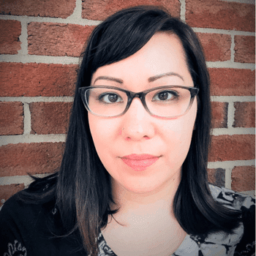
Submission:
[[[227,102],[211,102],[212,128],[227,128]]]

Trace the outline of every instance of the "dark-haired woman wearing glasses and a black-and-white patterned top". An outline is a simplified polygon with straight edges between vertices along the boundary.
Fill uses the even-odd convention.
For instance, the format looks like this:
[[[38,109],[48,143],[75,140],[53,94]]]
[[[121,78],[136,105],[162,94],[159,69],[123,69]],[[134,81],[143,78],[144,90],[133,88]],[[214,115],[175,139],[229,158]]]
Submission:
[[[252,198],[208,185],[210,116],[192,29],[156,7],[112,15],[83,53],[59,172],[1,210],[1,254],[252,255]]]

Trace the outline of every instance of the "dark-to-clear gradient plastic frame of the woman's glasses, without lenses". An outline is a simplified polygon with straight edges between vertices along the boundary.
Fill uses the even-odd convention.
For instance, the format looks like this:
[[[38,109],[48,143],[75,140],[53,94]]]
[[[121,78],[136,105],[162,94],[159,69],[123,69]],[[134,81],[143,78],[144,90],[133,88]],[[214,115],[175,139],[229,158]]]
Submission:
[[[96,113],[92,112],[91,109],[89,108],[89,105],[88,105],[88,102],[86,100],[85,95],[86,95],[86,91],[88,91],[89,89],[94,89],[94,88],[96,88],[96,89],[97,88],[114,89],[114,90],[117,90],[117,91],[123,91],[125,94],[127,94],[127,97],[128,97],[127,106],[124,109],[124,111],[122,113],[116,115],[116,116],[103,116],[103,115],[99,115],[99,114],[96,114]],[[154,115],[153,113],[151,113],[150,110],[148,110],[148,106],[146,105],[146,100],[145,100],[146,94],[148,94],[151,91],[157,90],[157,89],[165,89],[165,88],[181,88],[181,89],[187,89],[190,92],[189,106],[183,114],[178,115],[178,116],[157,116],[157,115]],[[154,87],[152,89],[148,89],[148,90],[145,90],[145,91],[134,92],[134,91],[127,91],[127,90],[118,88],[116,86],[88,86],[88,87],[80,87],[78,89],[78,91],[79,91],[80,97],[83,101],[83,105],[86,107],[86,110],[88,110],[94,116],[102,116],[102,117],[106,117],[106,118],[123,116],[127,112],[127,110],[129,109],[129,106],[132,104],[132,99],[137,97],[137,98],[140,99],[140,101],[143,104],[143,107],[146,109],[146,111],[151,116],[156,116],[156,117],[159,117],[159,118],[177,118],[179,116],[184,116],[189,111],[189,109],[192,107],[192,104],[195,100],[195,97],[198,94],[199,89],[196,88],[196,87],[187,87],[187,86],[159,86],[159,87]]]

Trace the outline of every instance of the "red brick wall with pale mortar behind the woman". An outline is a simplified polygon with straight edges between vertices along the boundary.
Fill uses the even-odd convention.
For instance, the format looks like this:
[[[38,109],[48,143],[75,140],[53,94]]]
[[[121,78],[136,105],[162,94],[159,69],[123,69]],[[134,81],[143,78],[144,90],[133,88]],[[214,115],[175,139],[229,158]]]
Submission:
[[[211,181],[255,190],[253,0],[0,0],[0,199],[59,167],[78,56],[123,7],[162,4],[198,34],[211,75]]]

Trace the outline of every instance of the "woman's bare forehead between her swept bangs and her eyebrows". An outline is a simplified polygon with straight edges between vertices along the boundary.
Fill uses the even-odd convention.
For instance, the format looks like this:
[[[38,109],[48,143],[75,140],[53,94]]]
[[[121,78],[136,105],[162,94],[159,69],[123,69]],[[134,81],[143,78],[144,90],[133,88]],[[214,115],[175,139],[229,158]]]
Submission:
[[[134,83],[135,80],[145,83],[148,78],[170,72],[178,74],[172,79],[181,80],[178,77],[182,77],[188,86],[192,86],[181,40],[176,34],[161,32],[154,34],[143,48],[127,59],[99,67],[91,85],[99,76],[118,78],[124,83]]]

